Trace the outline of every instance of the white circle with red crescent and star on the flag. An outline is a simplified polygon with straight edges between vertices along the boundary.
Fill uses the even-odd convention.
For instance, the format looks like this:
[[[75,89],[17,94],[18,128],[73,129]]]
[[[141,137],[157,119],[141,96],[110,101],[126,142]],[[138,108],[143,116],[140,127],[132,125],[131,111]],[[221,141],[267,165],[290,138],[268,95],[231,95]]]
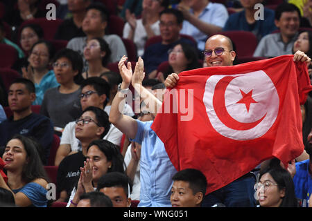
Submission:
[[[225,77],[230,80],[224,84],[222,80]],[[225,86],[215,90],[219,81]],[[243,94],[248,94],[252,102],[241,103]],[[224,99],[218,99],[220,97]],[[203,102],[214,129],[233,140],[261,137],[274,124],[279,112],[277,90],[263,70],[237,75],[212,75],[207,79]]]

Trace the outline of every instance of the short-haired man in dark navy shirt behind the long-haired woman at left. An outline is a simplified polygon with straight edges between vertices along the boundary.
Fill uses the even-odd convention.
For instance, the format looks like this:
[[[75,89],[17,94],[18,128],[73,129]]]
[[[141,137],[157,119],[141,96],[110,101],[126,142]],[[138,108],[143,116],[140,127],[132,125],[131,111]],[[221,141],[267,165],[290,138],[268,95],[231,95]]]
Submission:
[[[44,148],[44,158],[47,160],[53,142],[53,124],[48,117],[31,111],[35,98],[32,81],[19,78],[12,82],[8,91],[8,104],[13,115],[0,124],[0,146],[5,145],[15,134],[34,137]]]

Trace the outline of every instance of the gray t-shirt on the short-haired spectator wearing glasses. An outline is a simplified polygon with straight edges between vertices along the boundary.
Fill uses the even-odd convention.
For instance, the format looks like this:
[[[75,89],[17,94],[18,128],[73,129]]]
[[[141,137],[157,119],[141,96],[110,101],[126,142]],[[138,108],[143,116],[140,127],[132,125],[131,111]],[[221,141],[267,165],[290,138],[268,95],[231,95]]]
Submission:
[[[73,93],[60,93],[57,88],[51,88],[44,93],[40,113],[49,117],[53,126],[64,128],[66,124],[76,120],[81,114],[80,88]]]

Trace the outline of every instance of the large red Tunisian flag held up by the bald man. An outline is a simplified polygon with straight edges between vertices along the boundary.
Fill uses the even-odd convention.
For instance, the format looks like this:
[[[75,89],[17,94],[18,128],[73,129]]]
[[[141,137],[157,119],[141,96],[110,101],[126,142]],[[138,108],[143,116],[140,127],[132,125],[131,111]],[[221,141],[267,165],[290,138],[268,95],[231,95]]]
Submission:
[[[180,73],[152,125],[177,171],[207,177],[207,194],[263,160],[288,162],[304,151],[300,104],[312,90],[293,55]]]

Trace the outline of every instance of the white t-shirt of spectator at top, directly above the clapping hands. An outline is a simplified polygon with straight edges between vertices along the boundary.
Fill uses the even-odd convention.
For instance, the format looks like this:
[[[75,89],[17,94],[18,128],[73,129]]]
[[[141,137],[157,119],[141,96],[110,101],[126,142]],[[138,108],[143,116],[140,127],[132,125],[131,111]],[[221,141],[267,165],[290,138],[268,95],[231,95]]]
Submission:
[[[160,35],[159,20],[153,23],[153,25],[151,25],[150,28],[153,30],[155,35]],[[128,22],[125,23],[125,26],[123,28],[123,38],[125,39],[128,38],[130,30],[131,30],[131,27],[129,23]],[[142,19],[137,19],[137,27],[135,28],[135,36],[133,37],[133,41],[135,42],[135,45],[137,46],[138,56],[143,56],[146,40],[147,40],[147,33],[144,28]]]

